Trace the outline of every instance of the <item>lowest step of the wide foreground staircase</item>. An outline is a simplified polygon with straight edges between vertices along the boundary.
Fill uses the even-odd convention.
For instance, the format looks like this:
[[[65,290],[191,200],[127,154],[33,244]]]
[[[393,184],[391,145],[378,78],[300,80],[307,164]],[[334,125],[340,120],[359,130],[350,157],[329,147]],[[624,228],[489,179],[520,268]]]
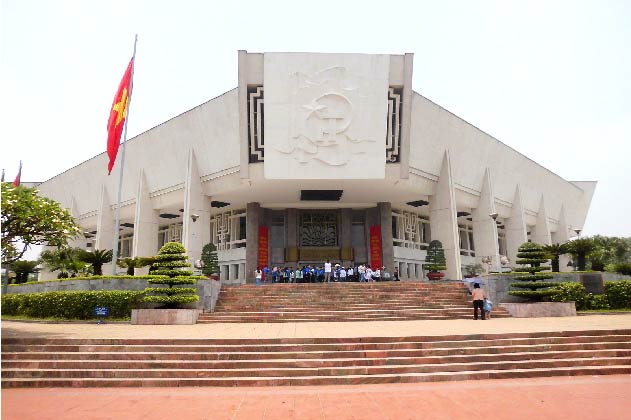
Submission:
[[[180,387],[180,386],[304,386],[304,385],[357,385],[377,383],[414,383],[464,381],[479,379],[536,378],[578,375],[624,375],[631,373],[628,365],[580,366],[543,369],[511,369],[456,371],[436,373],[397,373],[383,375],[303,376],[303,377],[223,377],[223,378],[7,378],[3,388],[17,387]]]

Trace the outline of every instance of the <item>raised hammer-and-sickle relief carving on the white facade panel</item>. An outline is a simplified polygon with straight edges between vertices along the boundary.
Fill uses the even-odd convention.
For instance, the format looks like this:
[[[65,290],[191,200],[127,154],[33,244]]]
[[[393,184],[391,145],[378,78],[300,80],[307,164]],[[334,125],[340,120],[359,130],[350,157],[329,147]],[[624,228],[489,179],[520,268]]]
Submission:
[[[292,102],[300,105],[291,118],[289,138],[277,150],[301,164],[318,160],[331,166],[346,165],[367,152],[375,140],[362,136],[361,86],[351,83],[345,67],[334,66],[315,74],[291,75]],[[357,80],[355,75],[353,78]]]

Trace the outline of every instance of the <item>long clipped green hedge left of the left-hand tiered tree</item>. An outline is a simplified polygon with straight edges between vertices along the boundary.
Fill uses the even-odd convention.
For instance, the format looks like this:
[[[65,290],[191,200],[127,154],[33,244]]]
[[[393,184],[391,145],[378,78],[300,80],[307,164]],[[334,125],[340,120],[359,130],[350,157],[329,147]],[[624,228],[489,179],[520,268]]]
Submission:
[[[131,290],[63,291],[2,295],[3,315],[33,318],[94,319],[94,308],[107,306],[110,317],[128,318],[143,292]]]

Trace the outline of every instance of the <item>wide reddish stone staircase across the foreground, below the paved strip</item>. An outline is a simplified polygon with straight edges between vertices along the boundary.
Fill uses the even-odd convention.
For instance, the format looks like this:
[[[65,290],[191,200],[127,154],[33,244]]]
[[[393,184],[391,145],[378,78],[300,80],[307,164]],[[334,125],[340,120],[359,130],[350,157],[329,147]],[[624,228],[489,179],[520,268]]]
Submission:
[[[373,384],[631,373],[631,329],[426,337],[4,338],[2,387]]]

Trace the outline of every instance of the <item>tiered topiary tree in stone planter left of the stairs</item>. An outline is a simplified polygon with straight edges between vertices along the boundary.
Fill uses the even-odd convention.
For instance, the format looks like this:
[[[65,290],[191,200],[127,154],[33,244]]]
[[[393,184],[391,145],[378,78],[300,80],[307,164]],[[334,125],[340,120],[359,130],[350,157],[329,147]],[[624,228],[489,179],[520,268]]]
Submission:
[[[164,244],[155,262],[152,265],[152,275],[168,276],[168,278],[156,278],[147,280],[151,284],[163,284],[168,287],[147,287],[145,289],[145,302],[162,304],[161,308],[174,309],[189,302],[197,302],[197,289],[192,287],[179,287],[196,283],[193,272],[187,268],[188,263],[186,249],[178,242]],[[177,287],[174,287],[177,286]]]

